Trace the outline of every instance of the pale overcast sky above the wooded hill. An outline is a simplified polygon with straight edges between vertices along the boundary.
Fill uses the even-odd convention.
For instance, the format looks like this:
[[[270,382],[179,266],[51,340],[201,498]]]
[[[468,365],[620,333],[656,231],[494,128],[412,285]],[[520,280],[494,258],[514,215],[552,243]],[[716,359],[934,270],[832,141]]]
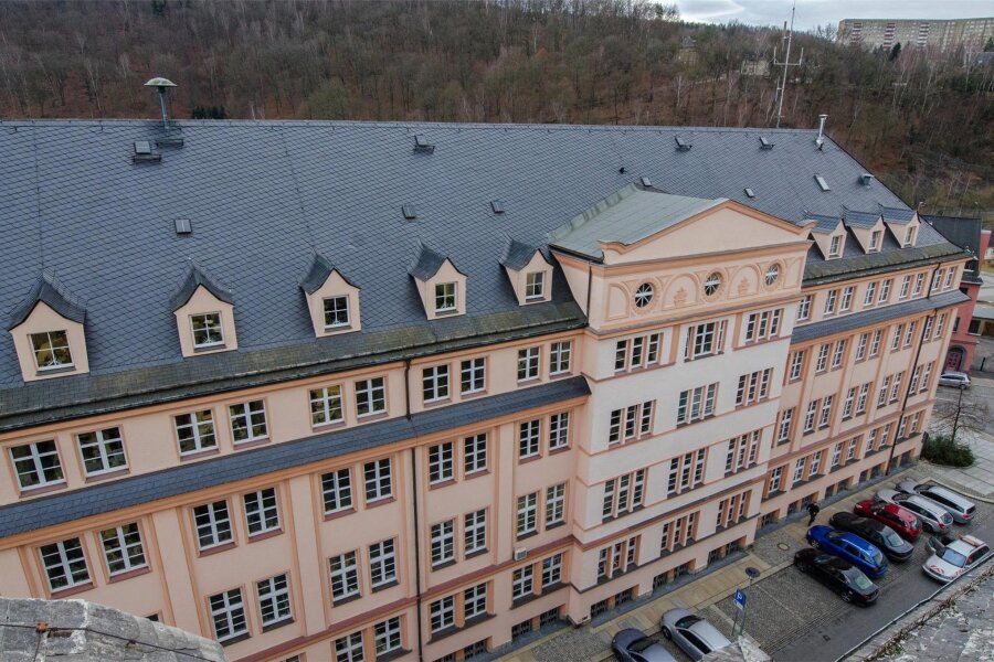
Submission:
[[[672,0],[674,1],[674,0]],[[675,0],[685,21],[783,25],[791,0]],[[991,0],[797,0],[796,30],[843,19],[962,19],[994,15]]]

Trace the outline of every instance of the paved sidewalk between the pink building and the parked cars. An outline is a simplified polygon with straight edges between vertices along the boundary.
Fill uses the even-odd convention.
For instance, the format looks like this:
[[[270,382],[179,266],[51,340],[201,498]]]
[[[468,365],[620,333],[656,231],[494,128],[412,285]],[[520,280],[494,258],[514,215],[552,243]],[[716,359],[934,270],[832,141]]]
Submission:
[[[817,523],[826,523],[833,513],[845,510],[852,511],[857,501],[869,499],[879,489],[880,483],[893,484],[896,480],[921,480],[926,473],[930,473],[929,466],[923,472],[920,468],[910,468],[905,471],[884,477],[880,481],[868,483],[858,492],[847,492],[834,500],[821,503],[822,512]],[[675,607],[684,607],[691,611],[702,612],[715,627],[729,634],[731,620],[728,620],[727,611],[709,609],[718,602],[729,600],[736,588],[744,588],[749,585],[745,575],[747,567],[760,570],[758,581],[775,575],[793,563],[794,553],[807,547],[804,535],[807,533],[807,513],[799,513],[786,520],[786,523],[772,525],[761,530],[752,547],[743,558],[729,563],[718,569],[702,570],[698,578],[683,586],[674,588],[669,592],[655,598],[645,599],[634,609],[618,613],[606,622],[596,626],[582,626],[579,628],[564,628],[549,636],[529,643],[500,658],[507,662],[601,662],[611,659],[611,638],[624,628],[638,628],[647,634],[659,631],[659,619],[663,613]],[[751,623],[762,622],[758,616],[750,617]],[[805,626],[801,623],[800,629]],[[747,623],[747,633],[749,624]],[[779,633],[778,633],[779,634]],[[787,629],[783,632],[784,642],[789,641],[795,632]]]

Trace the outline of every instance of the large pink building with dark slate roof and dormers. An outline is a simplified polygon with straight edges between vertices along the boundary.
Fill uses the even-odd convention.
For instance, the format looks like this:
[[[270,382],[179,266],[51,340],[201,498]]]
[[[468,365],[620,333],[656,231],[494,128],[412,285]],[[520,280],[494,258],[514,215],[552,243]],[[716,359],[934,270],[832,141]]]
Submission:
[[[969,256],[815,138],[0,122],[0,594],[468,660],[914,458]]]

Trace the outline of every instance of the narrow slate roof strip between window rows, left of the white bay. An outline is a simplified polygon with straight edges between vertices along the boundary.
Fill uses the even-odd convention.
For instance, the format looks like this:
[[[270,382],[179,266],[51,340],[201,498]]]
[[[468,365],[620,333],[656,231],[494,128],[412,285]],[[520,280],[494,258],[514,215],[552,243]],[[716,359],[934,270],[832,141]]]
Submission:
[[[155,473],[123,478],[80,490],[12,503],[0,508],[0,538],[431,435],[463,425],[467,420],[487,420],[584,395],[590,395],[586,380],[570,377],[541,386],[421,412],[412,415],[410,419],[389,418],[203,462],[181,465]]]

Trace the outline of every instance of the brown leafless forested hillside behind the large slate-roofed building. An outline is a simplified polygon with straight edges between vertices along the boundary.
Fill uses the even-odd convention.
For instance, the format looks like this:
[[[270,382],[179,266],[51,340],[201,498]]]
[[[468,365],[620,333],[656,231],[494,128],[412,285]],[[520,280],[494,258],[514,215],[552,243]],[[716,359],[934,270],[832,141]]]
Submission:
[[[795,35],[782,125],[827,113],[909,204],[990,220],[994,67],[818,32]],[[637,0],[7,1],[0,116],[155,117],[162,75],[179,118],[771,126],[779,70],[741,72],[781,36]]]

